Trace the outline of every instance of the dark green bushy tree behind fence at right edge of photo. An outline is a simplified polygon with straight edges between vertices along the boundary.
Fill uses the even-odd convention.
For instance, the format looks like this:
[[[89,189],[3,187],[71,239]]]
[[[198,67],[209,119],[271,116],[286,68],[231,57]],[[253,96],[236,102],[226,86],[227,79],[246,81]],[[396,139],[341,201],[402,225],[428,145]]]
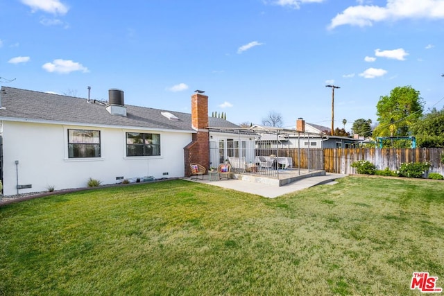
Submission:
[[[444,107],[441,111],[433,108],[422,116],[411,128],[418,146],[444,148]]]

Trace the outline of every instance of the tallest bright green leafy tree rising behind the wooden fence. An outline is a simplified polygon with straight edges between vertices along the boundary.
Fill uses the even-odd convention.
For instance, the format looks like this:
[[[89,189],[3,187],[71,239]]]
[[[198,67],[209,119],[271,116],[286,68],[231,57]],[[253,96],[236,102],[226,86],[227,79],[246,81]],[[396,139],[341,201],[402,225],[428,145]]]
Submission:
[[[395,87],[389,96],[379,97],[376,105],[379,125],[373,134],[382,137],[408,136],[411,125],[422,116],[423,105],[420,92],[413,87]]]

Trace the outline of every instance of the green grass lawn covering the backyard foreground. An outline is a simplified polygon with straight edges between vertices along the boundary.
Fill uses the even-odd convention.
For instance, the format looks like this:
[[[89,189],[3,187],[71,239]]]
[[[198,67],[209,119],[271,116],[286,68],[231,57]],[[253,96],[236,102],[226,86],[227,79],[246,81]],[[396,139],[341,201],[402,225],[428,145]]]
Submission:
[[[420,295],[444,182],[345,177],[273,200],[183,180],[0,207],[0,295]]]

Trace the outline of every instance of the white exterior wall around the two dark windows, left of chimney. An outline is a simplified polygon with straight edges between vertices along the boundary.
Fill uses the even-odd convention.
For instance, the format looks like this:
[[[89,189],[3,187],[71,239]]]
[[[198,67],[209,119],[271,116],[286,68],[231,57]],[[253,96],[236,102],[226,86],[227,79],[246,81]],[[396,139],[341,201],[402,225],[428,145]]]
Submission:
[[[69,159],[67,129],[101,131],[101,157]],[[160,134],[160,157],[126,157],[126,132]],[[32,184],[19,193],[87,186],[92,177],[102,184],[114,184],[133,177],[183,177],[183,148],[191,142],[191,133],[124,130],[119,128],[88,128],[74,125],[51,125],[3,121],[3,194],[17,194],[19,184]],[[19,161],[18,166],[15,160]],[[168,173],[168,175],[163,175]]]

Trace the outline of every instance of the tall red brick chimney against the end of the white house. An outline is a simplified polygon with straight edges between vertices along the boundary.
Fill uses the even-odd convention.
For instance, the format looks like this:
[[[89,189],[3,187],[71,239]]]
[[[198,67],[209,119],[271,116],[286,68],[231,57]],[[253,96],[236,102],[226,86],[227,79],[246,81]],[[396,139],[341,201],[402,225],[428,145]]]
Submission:
[[[185,176],[191,175],[189,164],[210,167],[210,132],[208,131],[208,96],[196,91],[191,96],[191,128],[196,130],[191,143],[184,148]]]

